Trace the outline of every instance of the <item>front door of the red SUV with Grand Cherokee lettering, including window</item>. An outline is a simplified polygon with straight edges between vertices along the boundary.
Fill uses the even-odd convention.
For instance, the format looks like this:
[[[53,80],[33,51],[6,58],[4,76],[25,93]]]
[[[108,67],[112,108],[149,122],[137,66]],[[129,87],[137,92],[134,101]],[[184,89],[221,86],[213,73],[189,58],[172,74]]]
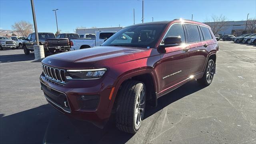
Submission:
[[[165,48],[166,52],[161,54],[162,94],[182,84],[190,70],[190,46],[185,44],[183,24],[173,24],[164,38],[168,36],[180,36],[182,44]]]

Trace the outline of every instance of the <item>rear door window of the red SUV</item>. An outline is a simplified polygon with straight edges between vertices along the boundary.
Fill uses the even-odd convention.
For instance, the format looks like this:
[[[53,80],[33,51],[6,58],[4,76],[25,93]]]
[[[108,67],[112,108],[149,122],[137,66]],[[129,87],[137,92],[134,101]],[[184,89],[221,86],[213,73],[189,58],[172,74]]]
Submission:
[[[200,34],[196,25],[186,24],[188,31],[188,43],[190,42],[200,42]]]

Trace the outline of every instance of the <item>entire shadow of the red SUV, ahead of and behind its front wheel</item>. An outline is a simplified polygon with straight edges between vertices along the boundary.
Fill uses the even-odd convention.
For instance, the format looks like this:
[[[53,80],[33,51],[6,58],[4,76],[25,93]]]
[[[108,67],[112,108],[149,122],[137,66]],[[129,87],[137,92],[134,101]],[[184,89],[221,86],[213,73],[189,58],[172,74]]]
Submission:
[[[144,118],[202,88],[195,80],[184,84],[159,98],[156,108],[147,108]],[[9,116],[0,114],[0,143],[123,144],[132,136],[116,128],[113,116],[101,129],[89,122],[70,119],[50,104]]]

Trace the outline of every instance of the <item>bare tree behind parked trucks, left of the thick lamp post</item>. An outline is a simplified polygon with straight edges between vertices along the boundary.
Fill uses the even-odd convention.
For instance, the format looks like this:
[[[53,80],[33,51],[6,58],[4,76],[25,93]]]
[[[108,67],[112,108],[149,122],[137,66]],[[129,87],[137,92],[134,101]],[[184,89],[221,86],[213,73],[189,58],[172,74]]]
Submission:
[[[12,25],[12,29],[21,33],[22,36],[28,36],[28,34],[33,32],[33,25],[30,22],[21,20],[15,22],[14,25]]]

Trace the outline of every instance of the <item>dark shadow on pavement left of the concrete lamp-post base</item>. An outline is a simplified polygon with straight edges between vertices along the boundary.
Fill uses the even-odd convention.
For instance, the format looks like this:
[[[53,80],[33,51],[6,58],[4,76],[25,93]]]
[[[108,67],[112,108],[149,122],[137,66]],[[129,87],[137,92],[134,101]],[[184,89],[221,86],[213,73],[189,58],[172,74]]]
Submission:
[[[34,59],[35,59],[34,53],[29,55],[25,55],[25,54],[1,55],[0,63],[21,62],[21,61],[28,61],[28,60],[34,60]]]

